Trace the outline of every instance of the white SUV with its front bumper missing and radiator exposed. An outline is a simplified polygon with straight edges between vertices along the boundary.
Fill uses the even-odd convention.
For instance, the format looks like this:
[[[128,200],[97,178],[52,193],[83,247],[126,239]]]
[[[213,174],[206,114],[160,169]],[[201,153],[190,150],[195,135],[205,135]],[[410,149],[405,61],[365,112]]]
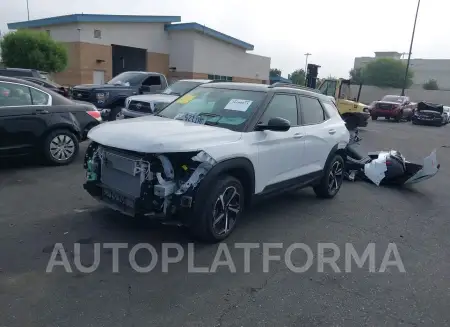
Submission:
[[[276,83],[209,83],[157,115],[92,129],[84,188],[130,216],[217,242],[255,200],[306,186],[334,197],[349,132],[333,102]]]

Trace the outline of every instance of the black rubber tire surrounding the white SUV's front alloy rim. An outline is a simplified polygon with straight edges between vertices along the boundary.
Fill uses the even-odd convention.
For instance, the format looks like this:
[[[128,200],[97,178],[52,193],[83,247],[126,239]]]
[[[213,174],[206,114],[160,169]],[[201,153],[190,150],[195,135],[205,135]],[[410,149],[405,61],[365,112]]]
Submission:
[[[212,212],[214,209],[214,205],[217,201],[217,198],[229,186],[234,186],[237,192],[239,193],[241,210],[236,218],[235,224],[228,231],[228,233],[218,235],[214,231],[212,226],[213,223]],[[208,194],[202,194],[200,198],[205,199],[205,201],[195,203],[194,207],[195,215],[193,217],[194,221],[191,226],[191,230],[202,241],[206,241],[209,243],[219,242],[221,240],[226,239],[236,229],[236,226],[239,224],[239,220],[242,216],[245,204],[244,187],[242,186],[241,182],[239,182],[239,180],[237,180],[236,178],[232,176],[223,176],[217,180],[217,182],[214,184],[212,188],[209,188],[207,190],[205,189],[204,192],[208,192]]]

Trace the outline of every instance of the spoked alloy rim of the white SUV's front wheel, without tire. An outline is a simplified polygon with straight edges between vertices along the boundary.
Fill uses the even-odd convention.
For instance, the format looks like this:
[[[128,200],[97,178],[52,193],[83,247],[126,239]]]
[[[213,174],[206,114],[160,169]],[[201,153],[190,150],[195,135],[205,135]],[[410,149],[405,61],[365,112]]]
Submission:
[[[236,224],[241,211],[241,195],[236,187],[228,186],[218,196],[213,208],[212,228],[215,234],[229,233]]]

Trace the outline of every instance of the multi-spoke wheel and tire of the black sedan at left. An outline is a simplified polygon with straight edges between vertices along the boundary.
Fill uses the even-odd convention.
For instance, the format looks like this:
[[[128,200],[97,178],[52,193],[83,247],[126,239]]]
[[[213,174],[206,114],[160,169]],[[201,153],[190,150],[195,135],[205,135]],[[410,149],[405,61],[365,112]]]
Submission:
[[[75,160],[79,141],[69,130],[51,132],[44,141],[43,153],[46,161],[55,166],[68,165]]]

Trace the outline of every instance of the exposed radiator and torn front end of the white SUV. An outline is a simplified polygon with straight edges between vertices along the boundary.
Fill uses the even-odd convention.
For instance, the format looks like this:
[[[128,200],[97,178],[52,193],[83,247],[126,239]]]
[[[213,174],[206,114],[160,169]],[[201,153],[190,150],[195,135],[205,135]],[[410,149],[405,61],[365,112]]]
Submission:
[[[204,151],[140,154],[95,142],[86,151],[84,188],[129,216],[175,217],[189,211],[216,161]]]

